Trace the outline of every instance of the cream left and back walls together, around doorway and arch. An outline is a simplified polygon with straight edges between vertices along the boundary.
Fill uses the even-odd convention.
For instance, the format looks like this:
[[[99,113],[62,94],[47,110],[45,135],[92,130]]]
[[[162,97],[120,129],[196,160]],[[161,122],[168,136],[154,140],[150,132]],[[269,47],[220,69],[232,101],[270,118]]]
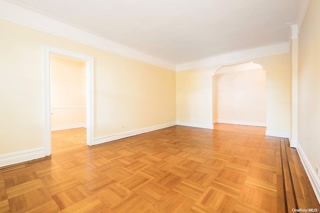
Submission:
[[[220,65],[175,73],[11,22],[0,28],[0,154],[43,147],[43,45],[94,57],[95,138],[174,121],[212,125]],[[266,70],[267,130],[288,133],[289,53],[247,61]]]

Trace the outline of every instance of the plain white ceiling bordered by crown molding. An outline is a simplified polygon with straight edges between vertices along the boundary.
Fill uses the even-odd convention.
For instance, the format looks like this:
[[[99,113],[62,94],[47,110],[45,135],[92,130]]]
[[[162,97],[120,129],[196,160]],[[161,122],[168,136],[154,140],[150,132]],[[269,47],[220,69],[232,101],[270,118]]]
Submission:
[[[14,0],[180,64],[288,40],[301,0]]]

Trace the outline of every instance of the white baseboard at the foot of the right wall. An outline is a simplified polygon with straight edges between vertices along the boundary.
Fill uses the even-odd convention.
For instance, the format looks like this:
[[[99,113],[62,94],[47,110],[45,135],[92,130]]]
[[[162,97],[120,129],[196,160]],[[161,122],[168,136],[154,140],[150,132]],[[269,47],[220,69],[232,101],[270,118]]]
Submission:
[[[314,194],[316,196],[316,199],[318,200],[318,203],[320,204],[320,181],[317,175],[315,174],[314,170],[312,169],[312,166],[307,159],[306,155],[304,154],[300,144],[296,142],[296,151],[300,157],[301,163],[304,167],[304,170],[306,172],[306,175],[308,176],[308,179],[311,183],[312,189],[314,191]]]

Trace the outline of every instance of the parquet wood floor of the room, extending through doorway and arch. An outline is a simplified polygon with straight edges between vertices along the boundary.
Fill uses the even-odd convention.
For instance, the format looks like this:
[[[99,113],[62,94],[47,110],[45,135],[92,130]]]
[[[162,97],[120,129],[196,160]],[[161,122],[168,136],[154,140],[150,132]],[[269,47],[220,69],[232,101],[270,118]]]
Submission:
[[[261,127],[214,127],[173,126],[93,147],[83,129],[55,131],[50,158],[0,170],[0,212],[320,209],[287,139]]]

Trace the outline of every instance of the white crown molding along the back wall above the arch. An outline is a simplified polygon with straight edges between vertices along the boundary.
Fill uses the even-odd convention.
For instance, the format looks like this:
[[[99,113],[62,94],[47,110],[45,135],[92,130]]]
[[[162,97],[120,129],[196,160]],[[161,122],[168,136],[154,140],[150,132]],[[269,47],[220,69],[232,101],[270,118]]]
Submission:
[[[250,49],[243,49],[234,52],[224,53],[220,55],[214,55],[208,58],[202,58],[199,60],[189,61],[175,66],[176,71],[196,69],[201,67],[226,64],[230,62],[236,62],[241,60],[248,60],[253,58],[259,58],[268,55],[281,54],[289,52],[290,43],[288,41],[273,43],[265,46],[253,47]]]

